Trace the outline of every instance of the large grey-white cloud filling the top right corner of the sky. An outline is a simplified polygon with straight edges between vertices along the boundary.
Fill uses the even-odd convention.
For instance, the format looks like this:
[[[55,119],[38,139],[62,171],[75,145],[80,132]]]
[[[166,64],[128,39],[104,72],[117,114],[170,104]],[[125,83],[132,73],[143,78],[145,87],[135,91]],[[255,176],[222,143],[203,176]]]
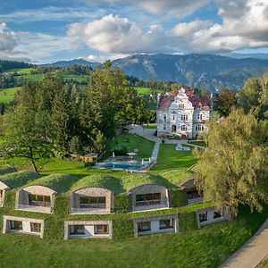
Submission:
[[[263,0],[216,0],[222,24],[192,21],[172,29],[186,52],[219,53],[268,46],[267,6]],[[184,35],[185,34],[185,35]]]

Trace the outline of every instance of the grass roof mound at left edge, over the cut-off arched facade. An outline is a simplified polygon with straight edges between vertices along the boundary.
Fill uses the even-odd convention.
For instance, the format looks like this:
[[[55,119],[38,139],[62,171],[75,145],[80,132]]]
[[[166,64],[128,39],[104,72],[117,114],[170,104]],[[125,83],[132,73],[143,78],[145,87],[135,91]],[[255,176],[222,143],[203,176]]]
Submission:
[[[0,180],[10,188],[18,188],[40,177],[41,175],[37,172],[22,171],[2,175],[0,176]]]

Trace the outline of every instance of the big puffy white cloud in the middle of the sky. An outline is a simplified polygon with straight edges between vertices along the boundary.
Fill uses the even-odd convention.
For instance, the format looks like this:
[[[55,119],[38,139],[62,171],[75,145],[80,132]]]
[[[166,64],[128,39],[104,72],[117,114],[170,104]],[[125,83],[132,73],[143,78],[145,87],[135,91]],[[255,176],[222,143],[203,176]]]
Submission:
[[[103,53],[156,53],[164,49],[162,26],[143,30],[129,19],[113,14],[88,24],[73,23],[68,35],[82,38],[89,47]]]

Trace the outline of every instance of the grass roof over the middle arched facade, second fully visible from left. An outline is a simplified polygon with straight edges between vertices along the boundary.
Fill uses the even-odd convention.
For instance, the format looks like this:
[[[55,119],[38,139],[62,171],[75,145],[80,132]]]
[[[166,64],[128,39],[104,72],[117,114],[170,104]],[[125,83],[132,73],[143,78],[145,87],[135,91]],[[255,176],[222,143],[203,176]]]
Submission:
[[[121,180],[106,174],[89,175],[81,180],[78,180],[71,187],[71,191],[76,191],[80,188],[100,187],[112,190],[114,193],[122,191]]]

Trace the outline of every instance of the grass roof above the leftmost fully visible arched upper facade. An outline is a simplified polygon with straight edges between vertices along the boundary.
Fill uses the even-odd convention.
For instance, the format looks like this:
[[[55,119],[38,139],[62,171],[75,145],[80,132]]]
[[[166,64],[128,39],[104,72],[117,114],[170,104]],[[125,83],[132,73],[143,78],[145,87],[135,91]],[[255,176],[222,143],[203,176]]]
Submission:
[[[57,193],[63,193],[71,188],[71,185],[77,180],[77,178],[66,174],[51,174],[39,178],[38,180],[28,183],[25,187],[32,185],[41,185],[51,188]]]

